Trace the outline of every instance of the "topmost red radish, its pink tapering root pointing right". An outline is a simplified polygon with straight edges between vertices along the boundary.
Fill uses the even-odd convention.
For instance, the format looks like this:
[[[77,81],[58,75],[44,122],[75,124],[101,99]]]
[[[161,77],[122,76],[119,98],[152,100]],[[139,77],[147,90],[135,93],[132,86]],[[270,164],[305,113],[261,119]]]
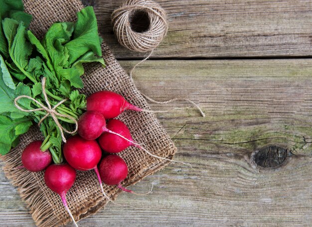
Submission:
[[[87,98],[87,111],[98,111],[105,119],[111,119],[125,110],[145,111],[128,103],[121,95],[111,91],[93,93]]]

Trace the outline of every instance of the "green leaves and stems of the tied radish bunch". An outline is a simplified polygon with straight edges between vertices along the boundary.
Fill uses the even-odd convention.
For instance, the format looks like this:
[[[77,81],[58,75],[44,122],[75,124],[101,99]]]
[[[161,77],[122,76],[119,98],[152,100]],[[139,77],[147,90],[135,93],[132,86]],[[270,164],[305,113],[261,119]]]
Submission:
[[[18,136],[28,131],[32,122],[38,123],[44,111],[21,112],[14,106],[14,99],[30,96],[45,104],[41,78],[46,78],[46,94],[60,114],[75,119],[86,108],[82,88],[83,63],[99,62],[101,38],[94,10],[91,6],[77,13],[77,22],[58,22],[51,25],[40,41],[28,29],[31,15],[23,12],[21,0],[0,0],[0,154],[6,154],[18,143]],[[37,109],[38,104],[29,99],[19,99],[18,105],[26,110]],[[73,120],[59,117],[59,122],[71,130]],[[40,124],[45,137],[41,149],[50,149],[55,163],[62,162],[61,135],[51,117]]]

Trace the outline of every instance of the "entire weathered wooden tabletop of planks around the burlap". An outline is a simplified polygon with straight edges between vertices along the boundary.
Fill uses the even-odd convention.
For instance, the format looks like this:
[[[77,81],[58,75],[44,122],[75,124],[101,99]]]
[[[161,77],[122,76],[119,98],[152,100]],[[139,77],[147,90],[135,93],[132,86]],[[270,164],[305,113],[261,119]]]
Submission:
[[[172,163],[131,187],[143,193],[154,182],[150,195],[118,197],[141,210],[109,204],[79,226],[312,226],[312,1],[158,2],[168,34],[134,80],[156,100],[188,98],[203,108],[206,117],[193,108],[157,114],[178,147],[175,159],[193,169]],[[121,47],[110,24],[122,1],[84,3],[94,5],[104,40],[131,69],[144,54]],[[34,226],[2,171],[0,226]]]

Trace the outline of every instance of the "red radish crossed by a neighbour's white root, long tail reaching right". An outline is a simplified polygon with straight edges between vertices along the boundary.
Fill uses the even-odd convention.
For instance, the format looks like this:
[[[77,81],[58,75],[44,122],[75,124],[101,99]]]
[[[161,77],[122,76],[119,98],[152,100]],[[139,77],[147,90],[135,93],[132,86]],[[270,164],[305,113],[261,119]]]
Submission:
[[[190,165],[189,163],[175,161],[175,160],[159,157],[155,154],[152,154],[150,151],[148,151],[143,146],[141,146],[141,144],[136,143],[133,140],[127,125],[121,120],[111,119],[108,121],[106,127],[109,130],[109,132],[104,132],[99,137],[98,142],[101,148],[108,153],[119,153],[125,150],[126,148],[128,148],[129,146],[135,146],[135,147],[138,147],[139,149],[144,150],[146,153],[148,153],[149,155],[155,158],[167,160],[170,162],[179,162],[185,165]]]

